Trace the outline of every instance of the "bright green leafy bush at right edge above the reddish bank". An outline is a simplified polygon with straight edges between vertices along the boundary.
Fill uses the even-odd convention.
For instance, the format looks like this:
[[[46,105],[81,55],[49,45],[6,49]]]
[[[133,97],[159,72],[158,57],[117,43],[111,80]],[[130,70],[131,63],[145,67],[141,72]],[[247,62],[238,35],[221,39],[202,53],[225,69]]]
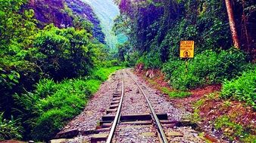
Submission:
[[[244,101],[256,108],[256,68],[245,71],[237,79],[224,81],[220,97]]]

